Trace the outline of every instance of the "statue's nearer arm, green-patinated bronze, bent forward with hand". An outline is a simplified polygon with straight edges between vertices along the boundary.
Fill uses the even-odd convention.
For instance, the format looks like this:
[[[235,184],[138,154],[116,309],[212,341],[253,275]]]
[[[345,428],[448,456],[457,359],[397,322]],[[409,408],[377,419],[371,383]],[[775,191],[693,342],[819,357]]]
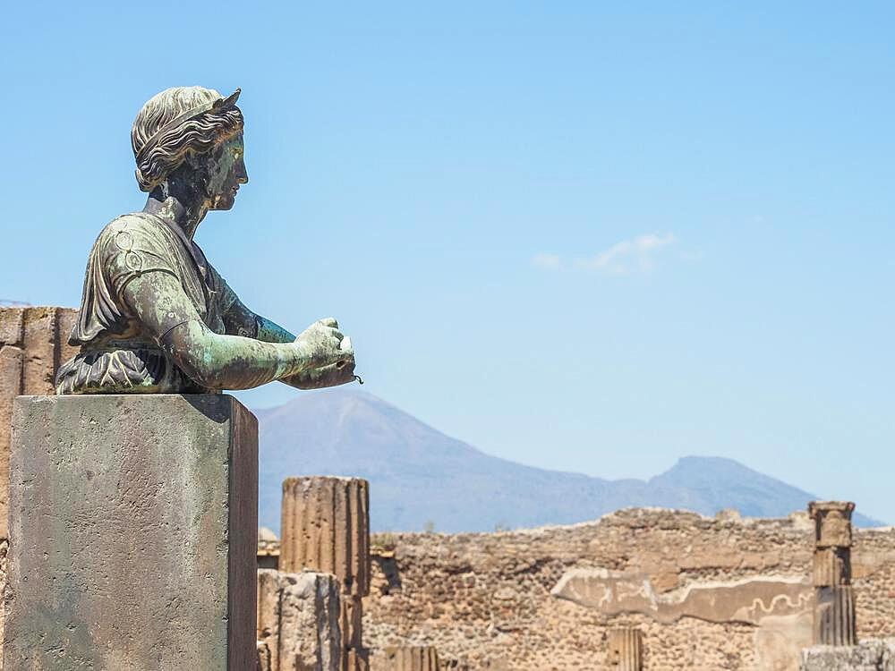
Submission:
[[[291,343],[218,335],[202,322],[177,278],[166,272],[134,277],[123,296],[177,366],[209,389],[250,389],[349,357],[354,361],[352,352],[341,348],[342,335],[322,322]]]

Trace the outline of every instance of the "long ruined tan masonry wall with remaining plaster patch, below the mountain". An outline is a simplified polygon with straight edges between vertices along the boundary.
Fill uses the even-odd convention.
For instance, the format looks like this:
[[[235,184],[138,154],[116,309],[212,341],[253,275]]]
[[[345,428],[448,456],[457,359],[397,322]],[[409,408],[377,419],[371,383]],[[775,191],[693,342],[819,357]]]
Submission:
[[[814,523],[630,509],[494,534],[373,537],[365,643],[433,645],[442,665],[608,667],[644,634],[644,669],[795,671],[811,645]],[[895,635],[895,530],[857,531],[859,638]]]

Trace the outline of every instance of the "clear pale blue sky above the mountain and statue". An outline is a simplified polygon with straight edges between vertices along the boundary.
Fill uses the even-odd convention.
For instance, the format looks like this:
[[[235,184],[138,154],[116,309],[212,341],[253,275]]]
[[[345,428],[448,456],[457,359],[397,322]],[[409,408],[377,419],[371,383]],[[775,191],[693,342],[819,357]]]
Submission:
[[[158,90],[242,87],[197,240],[366,389],[523,463],[720,455],[895,522],[887,3],[14,4],[0,298],[76,305]],[[256,407],[299,394],[271,385]]]

